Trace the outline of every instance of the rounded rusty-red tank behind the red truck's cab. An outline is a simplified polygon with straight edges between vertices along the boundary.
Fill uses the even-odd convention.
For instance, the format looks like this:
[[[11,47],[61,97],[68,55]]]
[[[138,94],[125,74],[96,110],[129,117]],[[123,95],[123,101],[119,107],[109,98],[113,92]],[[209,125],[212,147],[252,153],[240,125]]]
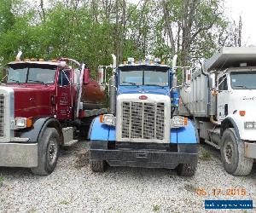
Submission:
[[[83,84],[81,101],[84,110],[102,107],[105,101],[105,92],[96,80],[90,79],[88,83]]]

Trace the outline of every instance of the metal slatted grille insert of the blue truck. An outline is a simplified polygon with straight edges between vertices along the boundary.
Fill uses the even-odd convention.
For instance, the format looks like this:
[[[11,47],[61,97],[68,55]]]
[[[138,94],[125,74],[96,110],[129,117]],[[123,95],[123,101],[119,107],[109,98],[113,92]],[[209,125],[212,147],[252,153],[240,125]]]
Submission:
[[[165,104],[122,102],[122,138],[164,139]]]

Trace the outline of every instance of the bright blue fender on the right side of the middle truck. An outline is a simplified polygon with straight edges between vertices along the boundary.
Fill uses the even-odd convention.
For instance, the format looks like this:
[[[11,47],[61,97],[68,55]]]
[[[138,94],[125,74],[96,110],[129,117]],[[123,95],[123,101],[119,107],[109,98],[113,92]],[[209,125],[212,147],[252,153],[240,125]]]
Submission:
[[[199,137],[195,125],[188,119],[188,125],[177,129],[177,143],[199,143]]]

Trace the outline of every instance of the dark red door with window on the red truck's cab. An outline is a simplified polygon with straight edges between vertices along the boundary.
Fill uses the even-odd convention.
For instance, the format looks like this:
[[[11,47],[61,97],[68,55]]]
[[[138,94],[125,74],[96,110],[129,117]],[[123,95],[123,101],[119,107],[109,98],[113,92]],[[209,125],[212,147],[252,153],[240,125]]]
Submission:
[[[60,70],[56,91],[56,114],[58,119],[69,119],[72,116],[71,71]]]

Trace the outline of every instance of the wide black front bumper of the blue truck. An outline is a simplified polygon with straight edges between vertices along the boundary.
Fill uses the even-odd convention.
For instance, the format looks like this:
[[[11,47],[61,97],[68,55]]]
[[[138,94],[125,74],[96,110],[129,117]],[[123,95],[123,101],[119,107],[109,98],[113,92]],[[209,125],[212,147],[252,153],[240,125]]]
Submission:
[[[198,145],[183,144],[177,152],[132,146],[108,149],[106,141],[90,142],[90,160],[106,160],[111,166],[174,169],[178,164],[197,162]],[[133,143],[131,143],[133,144]],[[107,145],[108,146],[108,145]],[[157,145],[155,145],[157,146]]]

